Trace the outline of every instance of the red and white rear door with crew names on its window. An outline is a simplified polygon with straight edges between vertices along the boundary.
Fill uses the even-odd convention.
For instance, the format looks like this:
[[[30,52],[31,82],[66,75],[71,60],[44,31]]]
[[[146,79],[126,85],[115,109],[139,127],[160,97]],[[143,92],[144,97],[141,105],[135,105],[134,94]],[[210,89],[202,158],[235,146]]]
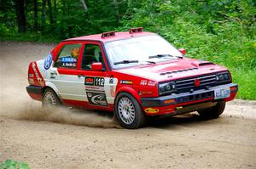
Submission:
[[[49,70],[49,80],[57,87],[57,93],[64,101],[86,101],[84,78],[80,76],[79,58],[84,42],[63,42],[53,67]]]

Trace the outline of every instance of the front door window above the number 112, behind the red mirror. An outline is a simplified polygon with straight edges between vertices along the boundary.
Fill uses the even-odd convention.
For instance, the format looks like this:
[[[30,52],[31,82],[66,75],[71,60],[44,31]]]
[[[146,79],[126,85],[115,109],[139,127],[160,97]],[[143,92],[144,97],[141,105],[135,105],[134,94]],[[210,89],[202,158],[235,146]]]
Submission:
[[[83,60],[81,68],[82,70],[91,70],[91,64],[95,62],[104,62],[102,59],[102,50],[97,44],[85,44]]]

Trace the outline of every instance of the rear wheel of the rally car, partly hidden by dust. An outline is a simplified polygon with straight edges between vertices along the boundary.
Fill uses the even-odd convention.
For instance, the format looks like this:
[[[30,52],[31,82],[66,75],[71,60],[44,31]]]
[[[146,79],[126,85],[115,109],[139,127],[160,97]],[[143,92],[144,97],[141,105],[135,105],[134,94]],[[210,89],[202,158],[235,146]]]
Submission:
[[[42,100],[42,107],[46,109],[56,108],[61,105],[61,101],[55,91],[51,88],[47,87],[44,90],[43,100]]]

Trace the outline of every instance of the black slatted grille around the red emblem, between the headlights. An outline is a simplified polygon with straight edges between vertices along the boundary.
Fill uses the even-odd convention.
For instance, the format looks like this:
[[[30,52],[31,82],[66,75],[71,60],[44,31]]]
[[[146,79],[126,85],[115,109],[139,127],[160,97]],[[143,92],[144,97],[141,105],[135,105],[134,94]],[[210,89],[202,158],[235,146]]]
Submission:
[[[200,86],[195,87],[195,79],[200,80]],[[202,88],[207,87],[214,87],[216,86],[216,75],[207,75],[207,76],[195,76],[189,79],[181,79],[175,81],[176,87],[177,87],[177,93],[185,93],[185,92],[191,92],[194,90],[199,90]]]

